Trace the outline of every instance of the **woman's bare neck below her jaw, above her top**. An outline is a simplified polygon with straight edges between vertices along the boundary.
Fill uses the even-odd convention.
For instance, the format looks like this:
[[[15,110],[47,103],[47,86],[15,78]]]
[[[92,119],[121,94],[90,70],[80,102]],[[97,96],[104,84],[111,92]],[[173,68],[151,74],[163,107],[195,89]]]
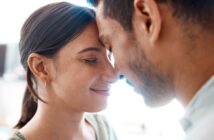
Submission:
[[[24,126],[21,133],[27,140],[94,140],[95,133],[85,121],[83,112],[38,107],[35,116]]]

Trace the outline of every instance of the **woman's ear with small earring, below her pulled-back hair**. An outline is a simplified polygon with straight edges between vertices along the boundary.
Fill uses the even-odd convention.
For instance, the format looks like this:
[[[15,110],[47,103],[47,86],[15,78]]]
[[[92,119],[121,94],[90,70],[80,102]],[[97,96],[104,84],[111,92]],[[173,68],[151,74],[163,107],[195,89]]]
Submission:
[[[28,67],[36,79],[42,82],[50,80],[50,73],[48,71],[47,58],[37,53],[31,53],[28,57]]]

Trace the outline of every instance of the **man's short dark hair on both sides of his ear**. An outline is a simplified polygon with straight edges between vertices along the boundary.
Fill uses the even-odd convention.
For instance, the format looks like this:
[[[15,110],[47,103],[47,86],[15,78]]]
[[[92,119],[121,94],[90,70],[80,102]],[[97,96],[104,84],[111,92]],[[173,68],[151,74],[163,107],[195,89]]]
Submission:
[[[117,20],[124,29],[132,29],[132,15],[134,0],[88,0],[96,6],[103,1],[103,14]],[[203,29],[214,32],[214,0],[156,0],[170,4],[173,15],[183,21],[190,21],[200,25]]]

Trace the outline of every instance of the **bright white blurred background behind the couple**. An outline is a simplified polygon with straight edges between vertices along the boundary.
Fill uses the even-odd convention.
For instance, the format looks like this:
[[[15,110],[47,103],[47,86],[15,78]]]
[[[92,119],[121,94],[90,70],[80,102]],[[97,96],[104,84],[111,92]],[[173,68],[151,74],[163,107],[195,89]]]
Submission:
[[[37,8],[58,0],[0,0],[0,140],[17,122],[26,82],[19,63],[18,41],[22,24]],[[68,2],[88,6],[85,0]],[[184,109],[173,100],[149,108],[125,79],[114,84],[106,115],[120,140],[178,140],[183,136],[179,119]]]

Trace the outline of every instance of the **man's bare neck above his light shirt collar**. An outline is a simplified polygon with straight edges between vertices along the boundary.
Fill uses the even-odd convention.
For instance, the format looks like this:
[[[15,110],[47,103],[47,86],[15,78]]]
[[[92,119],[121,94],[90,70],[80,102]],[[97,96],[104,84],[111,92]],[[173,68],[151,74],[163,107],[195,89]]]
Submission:
[[[183,64],[180,63],[176,70],[176,96],[184,106],[188,105],[197,91],[214,75],[214,36],[203,34],[195,44],[197,46],[192,52],[181,57]]]

